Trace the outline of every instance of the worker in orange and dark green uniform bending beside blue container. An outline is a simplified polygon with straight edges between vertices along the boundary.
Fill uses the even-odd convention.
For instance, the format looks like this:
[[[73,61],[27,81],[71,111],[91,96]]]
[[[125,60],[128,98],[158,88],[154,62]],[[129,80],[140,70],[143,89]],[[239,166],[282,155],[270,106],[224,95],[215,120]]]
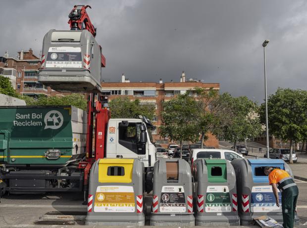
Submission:
[[[265,167],[264,174],[269,178],[269,184],[276,199],[276,205],[279,207],[278,190],[281,192],[281,208],[283,217],[283,227],[294,227],[294,215],[296,202],[299,196],[299,188],[293,178],[285,171],[275,167]]]

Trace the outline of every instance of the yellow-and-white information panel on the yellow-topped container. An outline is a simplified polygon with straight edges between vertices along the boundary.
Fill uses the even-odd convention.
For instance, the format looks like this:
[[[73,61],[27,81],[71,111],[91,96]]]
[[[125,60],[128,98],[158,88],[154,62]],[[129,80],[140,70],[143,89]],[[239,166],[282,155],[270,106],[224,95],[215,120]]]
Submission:
[[[94,212],[135,212],[133,186],[98,186]]]

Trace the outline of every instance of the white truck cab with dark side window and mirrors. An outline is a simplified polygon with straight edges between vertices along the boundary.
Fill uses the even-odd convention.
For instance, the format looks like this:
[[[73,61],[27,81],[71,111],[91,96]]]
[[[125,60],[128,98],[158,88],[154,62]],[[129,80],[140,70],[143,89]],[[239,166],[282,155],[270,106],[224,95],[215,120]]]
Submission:
[[[151,121],[144,116],[136,119],[109,119],[106,137],[107,158],[139,158],[146,168],[153,167],[155,146]]]

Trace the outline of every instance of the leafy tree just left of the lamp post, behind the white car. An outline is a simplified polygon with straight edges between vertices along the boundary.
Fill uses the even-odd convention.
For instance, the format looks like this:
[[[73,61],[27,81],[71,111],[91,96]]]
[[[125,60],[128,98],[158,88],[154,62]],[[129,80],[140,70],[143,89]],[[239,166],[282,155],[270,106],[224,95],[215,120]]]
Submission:
[[[222,137],[236,143],[247,138],[253,138],[262,132],[259,117],[255,115],[257,105],[246,96],[231,97],[229,93],[223,94],[219,102],[224,104],[227,114],[227,124],[222,126]]]

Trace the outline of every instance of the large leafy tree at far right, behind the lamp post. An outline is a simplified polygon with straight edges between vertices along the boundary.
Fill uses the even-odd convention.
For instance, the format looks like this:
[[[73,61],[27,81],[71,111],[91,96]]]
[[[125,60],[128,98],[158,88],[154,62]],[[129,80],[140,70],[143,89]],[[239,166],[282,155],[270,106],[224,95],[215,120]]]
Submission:
[[[307,91],[281,89],[268,97],[268,126],[271,135],[290,140],[293,163],[293,143],[307,138]],[[265,104],[260,108],[261,122],[265,123]]]

